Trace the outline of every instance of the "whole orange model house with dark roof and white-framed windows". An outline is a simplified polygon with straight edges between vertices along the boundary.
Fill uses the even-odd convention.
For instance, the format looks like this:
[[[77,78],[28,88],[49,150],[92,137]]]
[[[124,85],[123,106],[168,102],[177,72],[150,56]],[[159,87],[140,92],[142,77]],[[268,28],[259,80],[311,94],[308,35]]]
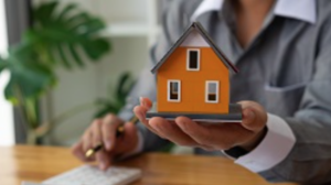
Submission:
[[[148,117],[182,115],[205,120],[210,118],[205,116],[232,113],[229,73],[238,69],[200,23],[192,23],[151,72],[157,75],[158,96],[157,110]]]

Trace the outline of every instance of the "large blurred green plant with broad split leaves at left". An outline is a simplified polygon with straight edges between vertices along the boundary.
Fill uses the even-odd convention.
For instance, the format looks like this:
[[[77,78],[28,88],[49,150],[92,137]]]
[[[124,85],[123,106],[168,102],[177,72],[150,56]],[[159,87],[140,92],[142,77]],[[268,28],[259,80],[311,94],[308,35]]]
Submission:
[[[105,23],[73,3],[64,8],[57,1],[42,3],[32,10],[32,20],[22,41],[0,57],[0,73],[10,72],[4,96],[19,108],[28,123],[29,142],[35,143],[47,132],[40,123],[38,104],[57,83],[56,67],[82,68],[107,54],[110,44],[99,34]]]

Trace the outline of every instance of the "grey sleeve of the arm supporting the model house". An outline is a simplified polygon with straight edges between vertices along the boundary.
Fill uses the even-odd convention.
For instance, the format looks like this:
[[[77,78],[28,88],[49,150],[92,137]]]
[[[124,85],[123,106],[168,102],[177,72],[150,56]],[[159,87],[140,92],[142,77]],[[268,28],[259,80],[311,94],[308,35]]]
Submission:
[[[308,84],[300,109],[284,118],[297,142],[289,155],[260,175],[271,182],[331,183],[331,21],[321,29],[313,79]]]

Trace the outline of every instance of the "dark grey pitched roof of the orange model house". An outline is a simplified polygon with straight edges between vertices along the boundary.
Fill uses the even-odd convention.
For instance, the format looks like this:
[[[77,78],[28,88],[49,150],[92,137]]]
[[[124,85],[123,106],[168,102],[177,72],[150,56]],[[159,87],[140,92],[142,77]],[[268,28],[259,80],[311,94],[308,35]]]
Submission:
[[[158,69],[166,63],[169,56],[174,52],[177,47],[179,47],[185,39],[190,35],[192,31],[197,31],[202,37],[210,44],[216,55],[221,58],[221,61],[225,64],[225,66],[235,74],[239,70],[235,67],[229,59],[222,53],[222,51],[216,46],[216,44],[212,41],[211,36],[207,32],[203,29],[203,26],[199,22],[193,22],[191,26],[184,32],[184,34],[174,43],[174,45],[169,50],[169,52],[163,56],[163,58],[151,69],[151,73],[158,72]]]

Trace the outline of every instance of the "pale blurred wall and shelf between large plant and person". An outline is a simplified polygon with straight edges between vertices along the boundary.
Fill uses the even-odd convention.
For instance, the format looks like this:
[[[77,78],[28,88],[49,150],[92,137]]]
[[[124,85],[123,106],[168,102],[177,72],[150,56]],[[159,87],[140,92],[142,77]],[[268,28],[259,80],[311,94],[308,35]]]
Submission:
[[[34,0],[41,2],[45,0]],[[110,32],[105,36],[111,41],[111,53],[98,64],[89,64],[84,69],[67,72],[58,69],[60,83],[43,102],[42,115],[46,120],[66,110],[98,97],[110,97],[109,86],[116,86],[124,72],[138,76],[148,62],[149,44],[153,40],[152,30],[157,24],[153,10],[157,0],[62,0],[76,2],[81,8],[103,18]],[[153,18],[150,20],[150,18]],[[142,28],[142,29],[141,29]],[[126,34],[120,31],[125,31]],[[92,122],[95,110],[75,115],[62,122],[49,138],[50,144],[71,145],[77,141]]]

